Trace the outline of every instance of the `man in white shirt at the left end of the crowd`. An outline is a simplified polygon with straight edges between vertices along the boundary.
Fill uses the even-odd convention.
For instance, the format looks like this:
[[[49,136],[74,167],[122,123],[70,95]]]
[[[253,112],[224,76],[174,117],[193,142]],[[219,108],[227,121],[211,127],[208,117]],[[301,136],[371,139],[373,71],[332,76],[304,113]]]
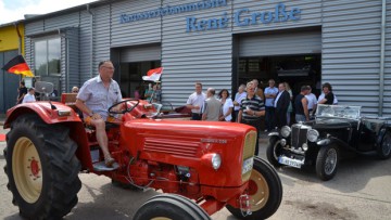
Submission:
[[[195,92],[190,94],[186,106],[191,109],[191,120],[201,120],[201,108],[206,100],[206,94],[202,92],[202,83],[195,82]]]

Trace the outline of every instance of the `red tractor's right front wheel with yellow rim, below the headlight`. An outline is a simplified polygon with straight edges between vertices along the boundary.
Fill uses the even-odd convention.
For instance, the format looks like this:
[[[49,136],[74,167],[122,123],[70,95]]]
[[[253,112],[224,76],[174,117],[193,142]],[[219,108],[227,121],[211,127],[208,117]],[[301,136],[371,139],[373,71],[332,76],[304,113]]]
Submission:
[[[249,182],[249,196],[252,215],[243,216],[240,208],[230,205],[227,205],[226,208],[239,219],[258,220],[269,218],[281,204],[281,180],[276,170],[258,157],[254,157],[254,168]]]

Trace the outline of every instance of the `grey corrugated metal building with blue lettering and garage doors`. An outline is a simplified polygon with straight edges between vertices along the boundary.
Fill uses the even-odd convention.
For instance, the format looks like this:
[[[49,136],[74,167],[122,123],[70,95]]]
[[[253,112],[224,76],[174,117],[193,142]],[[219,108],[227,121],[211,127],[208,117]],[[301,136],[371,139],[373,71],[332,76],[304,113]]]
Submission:
[[[390,13],[391,0],[103,0],[26,20],[26,59],[62,92],[112,60],[127,96],[164,66],[163,101],[175,106],[195,81],[235,91],[275,78],[295,90],[327,81],[340,104],[391,116]]]

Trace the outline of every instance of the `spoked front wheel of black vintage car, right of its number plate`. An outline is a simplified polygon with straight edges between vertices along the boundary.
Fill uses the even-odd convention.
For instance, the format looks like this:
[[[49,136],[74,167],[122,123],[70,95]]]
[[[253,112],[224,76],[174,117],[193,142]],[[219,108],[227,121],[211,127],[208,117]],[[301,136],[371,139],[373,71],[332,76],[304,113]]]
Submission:
[[[339,152],[336,145],[320,147],[316,158],[316,174],[320,180],[330,180],[337,173]]]

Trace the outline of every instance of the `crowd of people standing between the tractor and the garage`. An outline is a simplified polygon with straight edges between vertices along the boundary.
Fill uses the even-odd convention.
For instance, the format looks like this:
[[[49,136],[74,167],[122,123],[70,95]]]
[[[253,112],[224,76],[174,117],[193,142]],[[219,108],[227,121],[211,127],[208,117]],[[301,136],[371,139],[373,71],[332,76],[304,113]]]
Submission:
[[[310,120],[316,111],[317,104],[338,104],[332,87],[323,85],[323,93],[316,99],[310,86],[302,86],[300,93],[293,100],[292,90],[287,82],[278,83],[268,81],[268,87],[263,91],[256,79],[240,85],[235,99],[231,100],[229,91],[222,89],[216,98],[214,88],[202,92],[202,83],[195,82],[195,91],[187,100],[187,107],[191,109],[192,120],[235,121],[251,125],[258,131],[262,127],[262,116],[265,116],[265,131],[279,129],[294,120]],[[257,152],[257,150],[256,150]]]

